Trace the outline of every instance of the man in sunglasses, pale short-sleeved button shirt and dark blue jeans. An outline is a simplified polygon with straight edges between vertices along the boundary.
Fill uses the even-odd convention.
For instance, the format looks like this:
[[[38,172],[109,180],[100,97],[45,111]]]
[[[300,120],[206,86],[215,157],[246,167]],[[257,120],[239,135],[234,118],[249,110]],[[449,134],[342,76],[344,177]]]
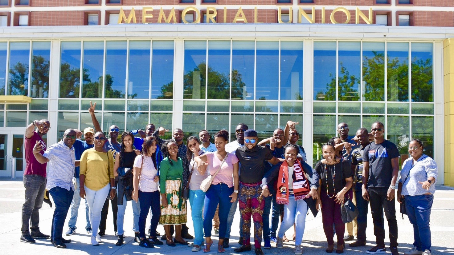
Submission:
[[[57,248],[66,248],[66,244],[71,242],[64,239],[62,235],[64,220],[74,196],[74,167],[79,166],[80,163],[76,160],[74,153],[75,140],[76,131],[68,129],[64,131],[63,139],[50,145],[44,154],[40,154],[44,144],[39,141],[36,141],[33,148],[33,154],[39,163],[49,163],[46,189],[55,204],[50,241]]]

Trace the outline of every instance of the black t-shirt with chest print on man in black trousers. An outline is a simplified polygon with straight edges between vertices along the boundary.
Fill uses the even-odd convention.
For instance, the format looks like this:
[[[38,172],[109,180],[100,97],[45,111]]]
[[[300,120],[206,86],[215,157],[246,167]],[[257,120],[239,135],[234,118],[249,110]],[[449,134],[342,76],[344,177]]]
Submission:
[[[388,140],[367,145],[363,152],[363,161],[369,162],[367,187],[390,187],[393,173],[391,159],[399,157],[397,146]]]

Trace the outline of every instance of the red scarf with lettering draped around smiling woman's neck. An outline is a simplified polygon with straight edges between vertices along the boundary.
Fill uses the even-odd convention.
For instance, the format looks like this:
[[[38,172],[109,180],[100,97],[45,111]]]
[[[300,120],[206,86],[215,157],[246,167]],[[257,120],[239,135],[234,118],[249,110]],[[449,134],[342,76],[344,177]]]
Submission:
[[[283,161],[279,168],[279,175],[277,176],[277,194],[276,202],[278,204],[288,204],[288,164]],[[293,193],[295,194],[295,200],[300,200],[309,194],[310,188],[309,183],[306,179],[306,174],[301,167],[301,163],[298,159],[293,164]]]

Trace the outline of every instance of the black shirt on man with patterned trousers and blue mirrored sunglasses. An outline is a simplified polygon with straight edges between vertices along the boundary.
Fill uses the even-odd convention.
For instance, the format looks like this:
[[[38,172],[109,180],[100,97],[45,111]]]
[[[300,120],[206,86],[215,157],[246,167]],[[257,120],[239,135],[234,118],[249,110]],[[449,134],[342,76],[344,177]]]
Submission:
[[[256,145],[251,150],[242,146],[235,152],[240,161],[240,181],[243,183],[258,183],[265,175],[265,160],[273,158],[271,150]]]

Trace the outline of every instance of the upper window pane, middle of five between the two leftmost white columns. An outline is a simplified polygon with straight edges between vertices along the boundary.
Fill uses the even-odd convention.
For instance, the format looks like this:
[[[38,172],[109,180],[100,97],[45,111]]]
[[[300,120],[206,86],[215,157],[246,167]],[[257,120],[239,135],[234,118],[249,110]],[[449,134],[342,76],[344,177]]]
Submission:
[[[106,42],[105,98],[124,98],[127,41]]]

